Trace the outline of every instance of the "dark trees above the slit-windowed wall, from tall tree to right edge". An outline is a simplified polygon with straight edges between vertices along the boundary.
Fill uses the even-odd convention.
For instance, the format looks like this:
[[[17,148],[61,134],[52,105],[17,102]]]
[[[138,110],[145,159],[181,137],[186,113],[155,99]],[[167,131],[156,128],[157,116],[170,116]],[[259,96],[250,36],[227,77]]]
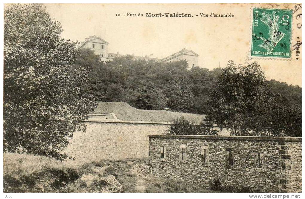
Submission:
[[[211,91],[206,119],[231,129],[233,135],[302,136],[301,106],[289,102],[294,98],[287,94],[296,92],[298,96],[298,87],[279,83],[288,91],[278,91],[276,84],[266,82],[257,62],[235,66],[229,61]],[[295,102],[300,103],[301,98]]]

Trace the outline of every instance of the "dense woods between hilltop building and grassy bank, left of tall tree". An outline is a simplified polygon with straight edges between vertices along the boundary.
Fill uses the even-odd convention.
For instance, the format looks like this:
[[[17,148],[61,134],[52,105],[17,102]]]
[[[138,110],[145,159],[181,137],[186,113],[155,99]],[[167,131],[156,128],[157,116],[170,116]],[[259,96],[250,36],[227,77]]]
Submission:
[[[84,62],[85,61],[85,62]],[[209,90],[221,69],[186,69],[186,61],[160,63],[120,57],[106,65],[89,49],[82,49],[77,64],[91,69],[82,95],[94,94],[100,101],[124,101],[135,108],[203,114]]]

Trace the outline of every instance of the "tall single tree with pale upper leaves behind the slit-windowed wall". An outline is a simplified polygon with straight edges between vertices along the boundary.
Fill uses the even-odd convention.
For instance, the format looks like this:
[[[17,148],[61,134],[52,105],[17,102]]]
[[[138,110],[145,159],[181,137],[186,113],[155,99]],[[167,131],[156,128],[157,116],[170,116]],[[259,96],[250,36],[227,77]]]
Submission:
[[[218,76],[211,99],[212,108],[207,120],[231,129],[233,135],[253,135],[264,129],[260,110],[271,101],[271,95],[257,62],[236,67],[229,61]]]

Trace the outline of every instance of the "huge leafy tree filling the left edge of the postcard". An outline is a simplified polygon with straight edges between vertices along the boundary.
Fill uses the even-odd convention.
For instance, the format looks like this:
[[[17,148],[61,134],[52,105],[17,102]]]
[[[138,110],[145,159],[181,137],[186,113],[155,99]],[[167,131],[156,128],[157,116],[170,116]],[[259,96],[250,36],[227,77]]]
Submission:
[[[59,22],[42,4],[13,4],[4,11],[3,150],[63,160],[60,151],[93,111],[80,97],[88,78],[84,66],[71,67],[76,43],[60,38]]]

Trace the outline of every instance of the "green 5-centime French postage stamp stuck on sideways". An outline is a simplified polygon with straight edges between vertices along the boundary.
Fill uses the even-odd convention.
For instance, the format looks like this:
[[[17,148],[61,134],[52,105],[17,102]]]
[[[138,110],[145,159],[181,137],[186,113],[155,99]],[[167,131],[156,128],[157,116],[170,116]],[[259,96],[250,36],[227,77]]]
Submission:
[[[291,57],[292,10],[253,9],[251,56]]]

